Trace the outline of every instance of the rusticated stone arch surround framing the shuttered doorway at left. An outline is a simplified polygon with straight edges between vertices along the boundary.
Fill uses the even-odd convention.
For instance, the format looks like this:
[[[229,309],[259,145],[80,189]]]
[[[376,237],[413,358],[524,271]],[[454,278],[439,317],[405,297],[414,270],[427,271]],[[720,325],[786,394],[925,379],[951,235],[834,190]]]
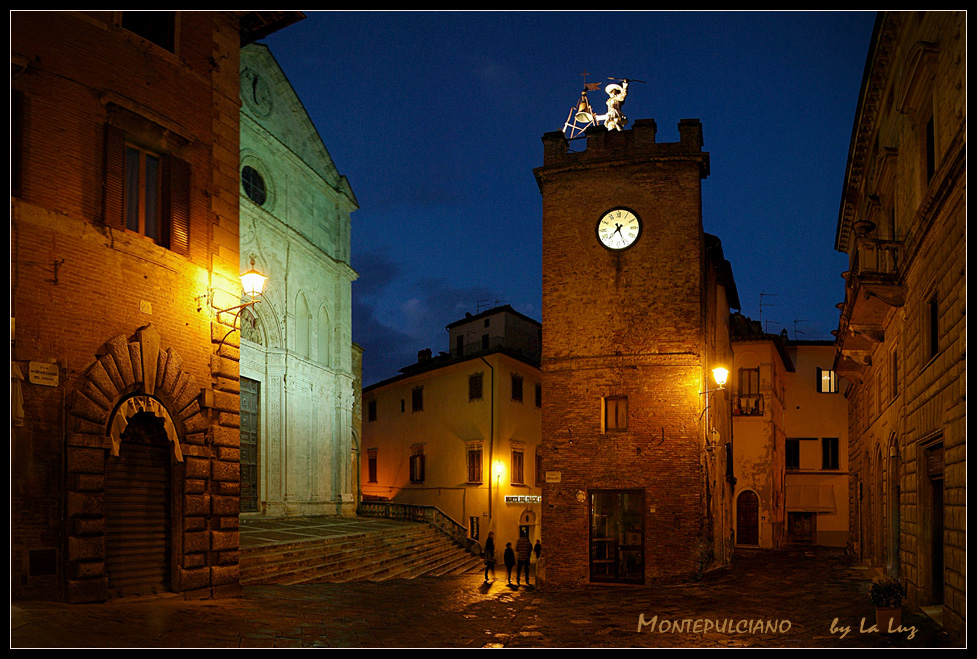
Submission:
[[[200,387],[184,370],[182,358],[172,348],[161,345],[153,325],[136,330],[131,337],[118,335],[107,341],[79,378],[65,415],[69,475],[65,560],[66,574],[72,575],[66,590],[69,602],[104,601],[111,593],[124,594],[118,583],[110,585],[109,562],[118,555],[109,555],[107,543],[109,527],[118,518],[107,508],[110,494],[107,479],[122,473],[118,468],[123,462],[128,465],[126,470],[137,464],[128,453],[132,447],[123,440],[129,435],[128,428],[138,427],[147,418],[161,420],[161,432],[171,445],[170,464],[180,465],[165,475],[169,484],[163,487],[170,494],[170,503],[165,504],[169,511],[156,520],[168,524],[169,530],[165,546],[157,555],[162,563],[154,565],[163,566],[167,582],[164,588],[185,590],[191,582],[210,585],[209,574],[188,570],[182,562],[189,551],[183,544],[182,520],[186,516],[202,520],[207,515],[196,503],[192,510],[184,508],[187,501],[192,501],[187,498],[186,483],[199,483],[210,475],[209,463],[197,452],[190,451],[197,457],[184,459],[188,447],[206,445],[210,439],[211,424],[200,408],[199,394]],[[130,420],[134,422],[132,425]],[[188,476],[197,480],[187,481]],[[115,492],[113,489],[111,493]],[[112,528],[124,528],[124,525],[116,523]]]

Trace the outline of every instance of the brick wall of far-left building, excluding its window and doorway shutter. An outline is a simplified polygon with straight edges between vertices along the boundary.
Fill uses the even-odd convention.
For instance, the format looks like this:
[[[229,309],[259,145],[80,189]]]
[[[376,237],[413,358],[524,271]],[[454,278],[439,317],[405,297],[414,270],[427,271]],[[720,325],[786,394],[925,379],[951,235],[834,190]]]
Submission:
[[[13,594],[105,598],[109,447],[98,421],[146,391],[141,378],[120,375],[122,353],[111,346],[145,348],[137,330],[148,325],[169,368],[161,377],[175,378],[160,382],[159,396],[184,445],[174,465],[174,585],[234,591],[238,356],[233,341],[224,357],[213,355],[229,317],[215,318],[208,296],[236,303],[239,290],[237,19],[182,15],[178,55],[121,29],[111,12],[11,20],[12,87],[23,99],[14,127],[23,160],[11,209],[12,358],[53,362],[61,373],[54,387],[24,384],[24,423],[12,436]],[[106,225],[107,123],[139,126],[154,148],[189,164],[187,254]],[[96,374],[104,368],[108,379]],[[197,394],[211,388],[215,408],[200,407]],[[55,574],[32,573],[38,551],[56,552]]]

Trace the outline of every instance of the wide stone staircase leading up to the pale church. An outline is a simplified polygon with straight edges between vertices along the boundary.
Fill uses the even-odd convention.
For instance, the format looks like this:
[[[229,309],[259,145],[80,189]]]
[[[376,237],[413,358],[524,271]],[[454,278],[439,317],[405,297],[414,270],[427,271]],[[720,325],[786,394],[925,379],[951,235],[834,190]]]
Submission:
[[[423,523],[242,547],[241,585],[383,581],[478,571],[482,561]]]

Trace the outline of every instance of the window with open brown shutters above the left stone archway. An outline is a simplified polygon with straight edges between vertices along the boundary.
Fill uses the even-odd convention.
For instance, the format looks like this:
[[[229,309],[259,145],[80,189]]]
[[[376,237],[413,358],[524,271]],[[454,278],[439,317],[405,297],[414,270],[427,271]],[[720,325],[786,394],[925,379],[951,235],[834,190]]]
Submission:
[[[153,133],[152,127],[146,132]],[[161,247],[187,255],[190,166],[171,154],[137,144],[116,126],[106,125],[103,219],[107,226],[139,233]]]

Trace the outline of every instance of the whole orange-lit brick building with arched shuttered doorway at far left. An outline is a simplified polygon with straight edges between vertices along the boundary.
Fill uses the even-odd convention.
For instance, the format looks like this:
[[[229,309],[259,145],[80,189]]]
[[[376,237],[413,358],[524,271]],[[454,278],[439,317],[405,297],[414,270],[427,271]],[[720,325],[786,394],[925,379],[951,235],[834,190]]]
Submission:
[[[11,13],[15,598],[239,592],[237,63],[299,19]]]

